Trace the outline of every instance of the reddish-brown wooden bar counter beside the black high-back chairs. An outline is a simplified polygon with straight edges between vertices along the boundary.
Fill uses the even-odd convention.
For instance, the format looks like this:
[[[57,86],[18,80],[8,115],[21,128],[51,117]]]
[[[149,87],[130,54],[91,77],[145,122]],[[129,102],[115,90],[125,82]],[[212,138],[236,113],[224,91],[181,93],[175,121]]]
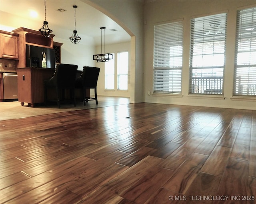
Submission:
[[[44,80],[52,77],[55,69],[24,67],[17,68],[18,101],[23,106],[34,107],[36,103],[44,102]]]

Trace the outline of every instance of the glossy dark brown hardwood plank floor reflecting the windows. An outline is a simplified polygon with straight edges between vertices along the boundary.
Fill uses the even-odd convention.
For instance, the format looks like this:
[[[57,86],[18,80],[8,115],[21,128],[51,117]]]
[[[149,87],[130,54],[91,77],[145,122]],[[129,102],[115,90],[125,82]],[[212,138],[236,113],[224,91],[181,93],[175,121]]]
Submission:
[[[138,103],[0,124],[0,203],[256,202],[255,110]]]

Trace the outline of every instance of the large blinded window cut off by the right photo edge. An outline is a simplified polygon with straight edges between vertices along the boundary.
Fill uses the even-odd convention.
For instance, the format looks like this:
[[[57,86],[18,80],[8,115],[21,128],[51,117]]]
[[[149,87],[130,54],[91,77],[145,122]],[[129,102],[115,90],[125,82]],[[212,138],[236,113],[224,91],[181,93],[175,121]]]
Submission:
[[[234,96],[256,96],[256,7],[237,11]]]

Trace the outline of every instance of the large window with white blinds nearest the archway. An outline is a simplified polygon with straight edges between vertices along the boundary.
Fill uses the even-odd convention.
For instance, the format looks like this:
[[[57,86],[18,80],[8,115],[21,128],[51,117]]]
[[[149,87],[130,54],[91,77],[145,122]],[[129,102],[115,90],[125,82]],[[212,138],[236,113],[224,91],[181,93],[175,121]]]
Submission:
[[[181,93],[182,21],[154,26],[154,92]]]

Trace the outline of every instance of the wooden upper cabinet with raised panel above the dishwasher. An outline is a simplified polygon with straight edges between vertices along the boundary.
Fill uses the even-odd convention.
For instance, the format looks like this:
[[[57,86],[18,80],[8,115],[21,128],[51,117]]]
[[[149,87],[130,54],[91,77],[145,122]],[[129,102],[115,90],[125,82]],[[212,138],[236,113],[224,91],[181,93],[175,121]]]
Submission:
[[[19,59],[18,55],[18,37],[17,33],[0,31],[0,57],[8,59]]]

